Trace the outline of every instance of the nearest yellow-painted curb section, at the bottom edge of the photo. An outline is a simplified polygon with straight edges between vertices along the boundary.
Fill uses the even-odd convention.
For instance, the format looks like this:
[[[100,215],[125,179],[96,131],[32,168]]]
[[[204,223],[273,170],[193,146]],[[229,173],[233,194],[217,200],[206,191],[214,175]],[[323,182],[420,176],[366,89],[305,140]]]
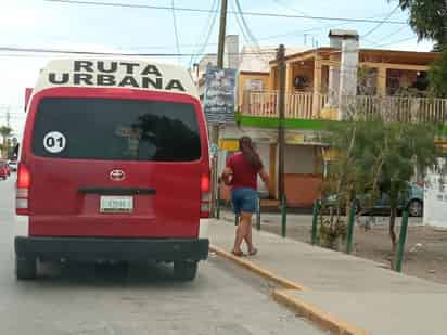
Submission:
[[[368,331],[361,330],[340,318],[336,318],[321,309],[289,295],[286,289],[274,289],[272,293],[273,299],[293,310],[299,317],[306,318],[310,322],[317,324],[323,330],[328,330],[331,334],[336,335],[369,335]]]

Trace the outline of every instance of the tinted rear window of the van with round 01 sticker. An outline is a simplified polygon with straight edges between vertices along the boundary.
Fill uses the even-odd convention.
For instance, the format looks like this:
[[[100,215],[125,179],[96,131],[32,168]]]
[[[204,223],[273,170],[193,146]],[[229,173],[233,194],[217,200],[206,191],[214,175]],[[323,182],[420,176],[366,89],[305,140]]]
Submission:
[[[192,162],[201,157],[194,106],[186,103],[46,98],[33,132],[37,156]]]

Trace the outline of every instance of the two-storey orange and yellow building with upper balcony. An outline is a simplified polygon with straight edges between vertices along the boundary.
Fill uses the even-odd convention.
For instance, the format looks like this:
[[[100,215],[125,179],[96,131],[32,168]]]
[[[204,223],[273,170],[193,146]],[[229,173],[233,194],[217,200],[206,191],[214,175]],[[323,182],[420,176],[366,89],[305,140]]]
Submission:
[[[427,69],[436,52],[360,49],[356,31],[331,30],[330,47],[288,48],[285,92],[285,194],[288,203],[310,207],[330,151],[318,133],[329,120],[353,112],[380,113],[389,121],[447,120],[447,101],[429,98]],[[220,170],[238,139],[250,136],[271,178],[278,199],[278,88],[274,48],[244,47],[238,66],[235,125],[220,131]],[[224,190],[222,198],[228,198]]]

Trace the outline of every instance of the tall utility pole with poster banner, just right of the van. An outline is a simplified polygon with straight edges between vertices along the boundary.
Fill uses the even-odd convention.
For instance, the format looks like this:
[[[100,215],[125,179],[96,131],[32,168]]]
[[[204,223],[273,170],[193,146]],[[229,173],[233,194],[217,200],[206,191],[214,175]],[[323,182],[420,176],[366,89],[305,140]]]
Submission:
[[[219,27],[219,42],[217,48],[217,67],[224,68],[224,53],[225,53],[225,36],[227,30],[227,0],[222,0],[220,8],[220,27]],[[219,145],[219,124],[213,125],[212,129],[212,145],[218,147]],[[216,199],[217,199],[217,181],[218,181],[218,152],[213,155],[212,160],[212,215],[216,216]]]

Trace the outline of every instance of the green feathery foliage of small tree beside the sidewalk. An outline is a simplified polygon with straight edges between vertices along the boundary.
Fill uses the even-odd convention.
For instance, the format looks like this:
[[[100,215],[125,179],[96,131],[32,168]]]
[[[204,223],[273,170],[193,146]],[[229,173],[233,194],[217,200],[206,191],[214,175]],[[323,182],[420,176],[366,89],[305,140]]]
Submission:
[[[337,195],[336,215],[340,216],[341,207],[349,206],[355,194],[369,194],[368,205],[372,207],[380,193],[387,193],[389,235],[395,247],[395,218],[408,182],[416,171],[423,177],[443,155],[434,142],[437,132],[435,125],[385,123],[381,118],[329,126],[324,138],[337,154],[323,191]]]

